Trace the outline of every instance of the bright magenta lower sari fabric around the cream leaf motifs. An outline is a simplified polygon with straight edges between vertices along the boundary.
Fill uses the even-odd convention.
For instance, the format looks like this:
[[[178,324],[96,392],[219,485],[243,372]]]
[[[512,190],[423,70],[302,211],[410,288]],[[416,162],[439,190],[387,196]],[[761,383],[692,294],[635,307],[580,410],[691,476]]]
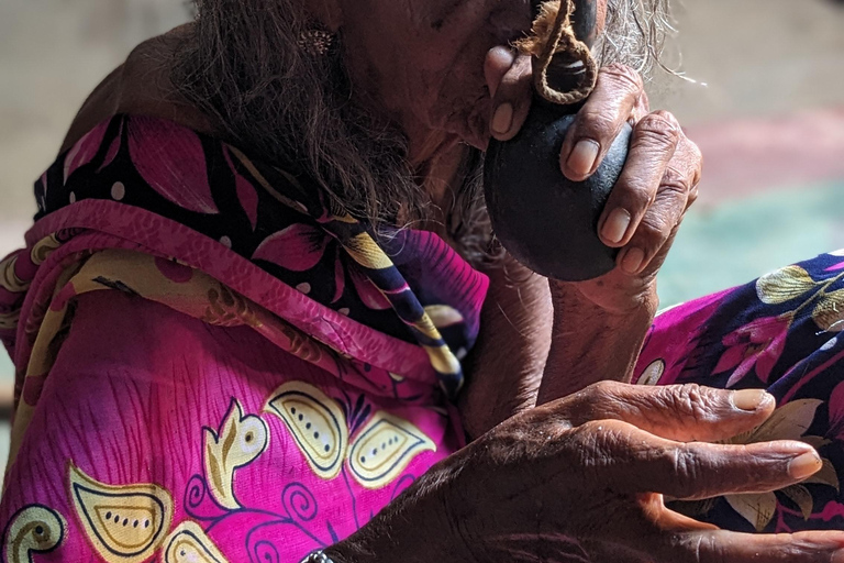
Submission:
[[[297,561],[354,532],[459,445],[444,411],[367,396],[248,328],[210,327],[118,291],[80,297],[74,324],[41,393],[44,407],[36,409],[7,476],[0,511],[7,528],[13,514],[26,507],[60,515],[64,530],[56,533],[63,540],[49,553],[31,552],[35,562],[132,559],[98,550],[110,544],[109,538],[98,542],[80,526],[69,483],[71,464],[97,482],[123,485],[90,487],[115,515],[121,509],[136,515],[145,506],[144,497],[133,498],[127,485],[149,483],[166,490],[173,512],[156,541],[171,540],[179,526],[184,530],[185,522],[196,522],[203,534],[195,534],[189,544],[199,552],[219,552],[216,556],[231,562]],[[320,476],[285,422],[267,408],[291,382],[335,401],[352,437],[389,412],[412,423],[430,444],[378,488],[362,486],[348,467],[331,478]],[[266,443],[233,471],[231,495],[214,496],[207,444],[210,433],[220,434],[232,416],[253,422],[241,424],[234,449],[248,451],[242,434],[252,427],[264,432],[254,441]],[[89,510],[96,510],[92,506]],[[206,561],[178,553],[168,559],[166,548],[164,543],[148,554],[155,561]]]

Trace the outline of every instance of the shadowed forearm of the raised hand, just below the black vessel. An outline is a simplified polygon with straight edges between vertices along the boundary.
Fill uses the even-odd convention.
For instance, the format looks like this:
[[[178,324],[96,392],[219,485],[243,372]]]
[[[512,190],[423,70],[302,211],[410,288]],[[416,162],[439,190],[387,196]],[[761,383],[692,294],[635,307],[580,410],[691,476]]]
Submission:
[[[654,290],[635,305],[607,310],[571,284],[553,284],[551,351],[537,404],[566,397],[603,379],[628,382],[654,319]]]

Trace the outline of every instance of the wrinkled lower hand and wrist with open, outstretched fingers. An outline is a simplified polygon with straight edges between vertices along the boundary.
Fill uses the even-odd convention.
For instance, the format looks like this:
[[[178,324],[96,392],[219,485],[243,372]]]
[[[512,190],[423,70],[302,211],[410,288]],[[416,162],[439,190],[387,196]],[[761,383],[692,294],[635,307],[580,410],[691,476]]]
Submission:
[[[602,382],[496,427],[326,553],[336,563],[844,562],[844,532],[730,532],[663,501],[776,490],[820,470],[802,442],[704,443],[774,408],[760,390]]]

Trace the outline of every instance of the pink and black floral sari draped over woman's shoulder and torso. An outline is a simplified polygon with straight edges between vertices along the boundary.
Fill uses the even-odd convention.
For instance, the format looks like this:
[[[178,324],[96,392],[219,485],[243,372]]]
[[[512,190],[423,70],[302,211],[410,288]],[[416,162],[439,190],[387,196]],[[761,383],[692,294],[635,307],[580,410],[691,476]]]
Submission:
[[[487,279],[291,170],[116,117],[0,263],[11,562],[297,561],[462,445]]]

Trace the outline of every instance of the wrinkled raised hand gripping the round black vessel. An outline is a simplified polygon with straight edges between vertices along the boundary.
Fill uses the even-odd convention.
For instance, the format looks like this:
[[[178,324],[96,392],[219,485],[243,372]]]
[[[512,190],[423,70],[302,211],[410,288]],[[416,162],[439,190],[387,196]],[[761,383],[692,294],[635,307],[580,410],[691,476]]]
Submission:
[[[519,132],[530,111],[531,60],[496,47],[487,55],[485,71],[492,96],[490,131],[506,141]],[[626,122],[634,128],[628,162],[598,222],[603,243],[620,249],[618,267],[576,284],[597,305],[622,310],[654,291],[656,273],[697,198],[702,163],[674,115],[649,112],[638,74],[610,65],[600,69],[595,90],[563,143],[563,174],[574,181],[591,176]]]

